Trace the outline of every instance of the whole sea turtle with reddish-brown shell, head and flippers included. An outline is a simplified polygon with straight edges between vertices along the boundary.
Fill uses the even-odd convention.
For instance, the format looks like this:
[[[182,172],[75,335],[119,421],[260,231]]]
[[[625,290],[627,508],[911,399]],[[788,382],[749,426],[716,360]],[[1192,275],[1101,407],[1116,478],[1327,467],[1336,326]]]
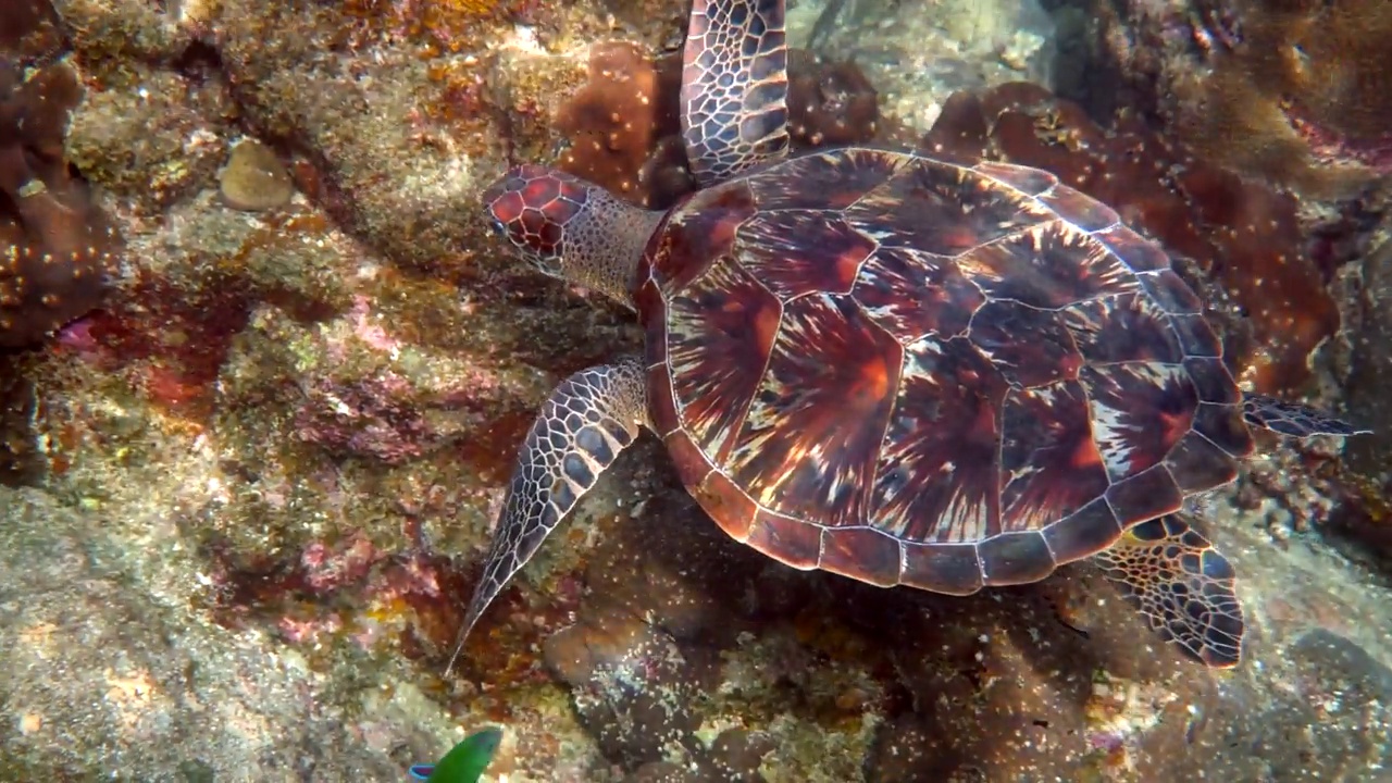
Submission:
[[[727,534],[788,566],[966,595],[1093,557],[1153,628],[1235,665],[1233,570],[1186,499],[1235,479],[1249,425],[1353,429],[1243,397],[1165,252],[1047,171],[789,157],[785,64],[781,0],[695,0],[702,189],[649,212],[518,166],[484,194],[526,261],[635,308],[646,352],[543,404],[461,644],[646,428]]]

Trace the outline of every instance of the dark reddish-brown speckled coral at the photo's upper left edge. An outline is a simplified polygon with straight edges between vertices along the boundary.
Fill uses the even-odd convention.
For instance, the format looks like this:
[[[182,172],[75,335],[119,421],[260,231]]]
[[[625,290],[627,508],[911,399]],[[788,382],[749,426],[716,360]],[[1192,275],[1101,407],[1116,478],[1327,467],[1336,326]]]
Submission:
[[[0,346],[95,308],[116,263],[120,240],[63,157],[79,89],[65,64],[24,79],[0,61]]]

